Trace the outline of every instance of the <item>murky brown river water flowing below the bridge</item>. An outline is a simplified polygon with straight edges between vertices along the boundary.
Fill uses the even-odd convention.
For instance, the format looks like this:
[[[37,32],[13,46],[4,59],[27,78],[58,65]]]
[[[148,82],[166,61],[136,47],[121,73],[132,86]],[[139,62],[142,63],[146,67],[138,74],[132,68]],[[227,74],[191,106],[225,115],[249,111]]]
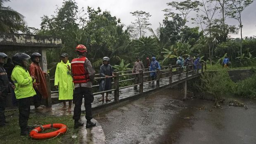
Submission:
[[[190,94],[191,95],[191,94]],[[254,144],[256,101],[248,106],[223,105],[201,99],[181,101],[179,90],[166,89],[100,113],[107,144]],[[242,100],[243,102],[243,100]]]

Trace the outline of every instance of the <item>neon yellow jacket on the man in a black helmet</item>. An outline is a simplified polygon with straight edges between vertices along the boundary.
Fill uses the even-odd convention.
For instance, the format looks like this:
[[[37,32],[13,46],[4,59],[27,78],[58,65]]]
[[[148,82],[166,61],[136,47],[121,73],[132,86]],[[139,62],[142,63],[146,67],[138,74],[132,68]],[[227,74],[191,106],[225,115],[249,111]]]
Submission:
[[[16,99],[33,97],[36,95],[32,84],[32,78],[25,68],[15,66],[12,70],[11,79],[16,87],[14,90]]]

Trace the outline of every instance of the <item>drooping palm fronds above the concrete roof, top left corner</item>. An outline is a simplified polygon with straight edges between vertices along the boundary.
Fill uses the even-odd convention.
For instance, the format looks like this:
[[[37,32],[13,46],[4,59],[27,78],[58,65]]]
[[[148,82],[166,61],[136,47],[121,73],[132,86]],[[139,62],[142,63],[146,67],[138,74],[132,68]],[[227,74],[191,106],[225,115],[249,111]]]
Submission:
[[[4,7],[4,2],[10,0],[0,0],[0,32],[13,33],[20,31],[26,24],[24,16],[11,7]]]

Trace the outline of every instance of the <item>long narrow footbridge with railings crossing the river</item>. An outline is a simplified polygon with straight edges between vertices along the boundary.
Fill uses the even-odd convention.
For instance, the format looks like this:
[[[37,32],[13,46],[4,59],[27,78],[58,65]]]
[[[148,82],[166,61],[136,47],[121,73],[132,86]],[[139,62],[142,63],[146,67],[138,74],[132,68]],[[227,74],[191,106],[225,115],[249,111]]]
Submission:
[[[157,69],[156,71],[149,71],[149,68],[145,69],[145,72],[140,71],[140,73],[132,73],[132,71],[120,71],[114,72],[114,77],[110,76],[109,78],[113,78],[113,89],[102,91],[102,92],[110,92],[114,91],[114,94],[109,94],[109,98],[112,100],[111,102],[102,103],[98,102],[98,99],[102,97],[102,92],[97,92],[99,85],[92,85],[94,89],[94,97],[95,100],[92,103],[92,108],[94,111],[106,109],[107,106],[116,105],[120,102],[133,99],[138,96],[143,96],[145,94],[149,94],[150,92],[154,92],[156,90],[172,87],[173,85],[177,85],[179,83],[183,83],[184,97],[187,97],[187,80],[197,78],[206,70],[206,64],[200,64],[201,68],[198,69],[194,65],[177,67],[176,65],[169,65],[161,67],[161,70]],[[151,80],[150,73],[156,72],[157,77],[156,80]],[[138,77],[138,83],[135,83],[135,76]],[[105,77],[99,77],[99,74],[95,75],[95,80],[101,80]],[[51,81],[54,79],[50,79]],[[50,82],[49,80],[49,82]],[[127,83],[130,82],[130,83]],[[124,84],[126,83],[126,84]],[[139,86],[138,89],[134,89],[134,86]],[[49,99],[58,98],[58,91],[51,91],[52,97]],[[49,102],[49,100],[48,100]],[[84,107],[82,106],[82,110]]]

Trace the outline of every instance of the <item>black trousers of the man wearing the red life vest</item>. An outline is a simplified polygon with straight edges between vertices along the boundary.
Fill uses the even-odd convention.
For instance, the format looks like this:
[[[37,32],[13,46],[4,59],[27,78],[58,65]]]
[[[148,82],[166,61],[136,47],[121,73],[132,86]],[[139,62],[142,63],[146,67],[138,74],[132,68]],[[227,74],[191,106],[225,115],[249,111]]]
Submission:
[[[76,87],[73,95],[73,103],[75,104],[73,120],[79,120],[81,117],[81,106],[84,97],[85,118],[92,119],[92,102],[94,100],[92,88]]]

